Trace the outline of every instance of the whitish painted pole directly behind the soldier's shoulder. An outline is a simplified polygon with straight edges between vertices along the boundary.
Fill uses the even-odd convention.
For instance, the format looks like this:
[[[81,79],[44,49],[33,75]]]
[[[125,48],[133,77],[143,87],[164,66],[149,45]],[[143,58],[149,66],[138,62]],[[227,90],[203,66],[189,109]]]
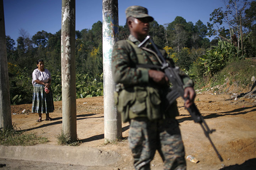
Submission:
[[[105,143],[122,138],[121,115],[114,103],[114,81],[111,56],[114,43],[118,40],[118,0],[102,0],[103,39],[103,97]]]

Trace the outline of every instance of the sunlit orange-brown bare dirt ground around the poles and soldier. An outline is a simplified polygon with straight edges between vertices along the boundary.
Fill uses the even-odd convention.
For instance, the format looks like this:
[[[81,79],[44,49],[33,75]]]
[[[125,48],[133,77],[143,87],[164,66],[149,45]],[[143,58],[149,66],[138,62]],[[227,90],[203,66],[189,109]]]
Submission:
[[[180,129],[185,144],[186,156],[199,160],[195,164],[187,160],[188,170],[252,170],[256,167],[256,99],[230,98],[231,94],[218,95],[212,91],[197,94],[195,103],[210,129],[213,143],[222,155],[220,162],[199,124],[195,124],[178,98]],[[0,159],[5,169],[133,169],[132,155],[128,148],[129,124],[123,124],[124,140],[117,144],[104,145],[103,97],[81,98],[76,100],[77,134],[81,140],[78,147],[100,148],[120,155],[117,163],[107,166],[81,166]],[[26,133],[36,133],[49,139],[47,144],[57,146],[56,136],[62,130],[62,102],[54,102],[55,111],[50,113],[52,121],[37,123],[37,114],[31,113],[31,104],[11,106],[12,123]],[[26,109],[24,113],[22,111]],[[53,158],[54,159],[54,158]],[[18,167],[18,168],[17,168]],[[61,168],[62,167],[62,168]],[[162,169],[158,153],[151,162],[151,169]]]

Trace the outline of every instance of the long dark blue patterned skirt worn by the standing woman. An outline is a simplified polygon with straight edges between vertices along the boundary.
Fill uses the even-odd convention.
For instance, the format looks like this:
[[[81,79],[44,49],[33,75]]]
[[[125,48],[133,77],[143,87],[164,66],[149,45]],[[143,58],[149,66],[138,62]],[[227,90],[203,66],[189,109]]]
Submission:
[[[33,89],[32,113],[51,113],[54,111],[52,89],[47,94],[44,85],[35,84]]]

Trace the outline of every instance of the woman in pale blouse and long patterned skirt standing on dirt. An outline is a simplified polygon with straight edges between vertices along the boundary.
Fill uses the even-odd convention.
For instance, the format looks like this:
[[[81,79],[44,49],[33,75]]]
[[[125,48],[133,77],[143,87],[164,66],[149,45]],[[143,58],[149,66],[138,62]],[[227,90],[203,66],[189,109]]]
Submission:
[[[42,121],[42,113],[46,113],[46,120],[52,120],[49,113],[54,111],[53,96],[50,83],[52,78],[48,69],[44,68],[43,60],[37,61],[37,68],[32,73],[33,103],[32,113],[38,113],[39,119]],[[47,89],[48,88],[48,89]]]

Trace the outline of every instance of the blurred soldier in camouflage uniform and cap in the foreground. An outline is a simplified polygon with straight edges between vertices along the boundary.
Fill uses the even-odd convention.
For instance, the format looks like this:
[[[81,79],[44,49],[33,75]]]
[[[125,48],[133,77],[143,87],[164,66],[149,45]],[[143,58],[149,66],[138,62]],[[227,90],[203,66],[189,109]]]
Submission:
[[[150,161],[158,150],[164,161],[164,169],[185,170],[185,150],[178,122],[176,101],[167,108],[165,96],[169,82],[158,69],[141,68],[139,64],[160,66],[158,57],[150,43],[143,48],[138,45],[149,33],[149,23],[154,20],[142,6],[126,9],[128,40],[116,42],[112,52],[113,78],[117,83],[115,102],[123,122],[130,122],[129,147],[136,170],[149,170]],[[167,62],[174,61],[160,49]],[[189,107],[195,97],[193,82],[180,72],[184,83],[185,107]]]

